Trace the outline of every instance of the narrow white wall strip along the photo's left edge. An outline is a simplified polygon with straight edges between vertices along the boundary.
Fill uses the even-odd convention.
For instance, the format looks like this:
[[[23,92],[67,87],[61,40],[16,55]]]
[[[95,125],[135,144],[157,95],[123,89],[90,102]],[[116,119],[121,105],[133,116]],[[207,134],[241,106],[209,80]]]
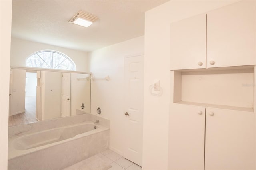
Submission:
[[[7,170],[12,0],[0,0],[0,169]]]

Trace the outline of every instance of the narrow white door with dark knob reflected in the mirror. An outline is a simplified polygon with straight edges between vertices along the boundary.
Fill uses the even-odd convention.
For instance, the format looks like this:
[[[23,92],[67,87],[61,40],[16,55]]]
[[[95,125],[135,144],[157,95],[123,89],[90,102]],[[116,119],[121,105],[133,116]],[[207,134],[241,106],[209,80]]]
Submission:
[[[61,113],[62,117],[70,116],[70,73],[62,73],[62,97]]]

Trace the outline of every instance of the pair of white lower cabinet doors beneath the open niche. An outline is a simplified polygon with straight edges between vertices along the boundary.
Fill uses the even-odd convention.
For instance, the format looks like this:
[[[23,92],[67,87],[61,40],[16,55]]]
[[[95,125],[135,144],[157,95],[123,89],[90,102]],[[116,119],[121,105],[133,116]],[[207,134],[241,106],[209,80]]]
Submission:
[[[171,169],[255,169],[254,113],[181,104],[170,109]]]

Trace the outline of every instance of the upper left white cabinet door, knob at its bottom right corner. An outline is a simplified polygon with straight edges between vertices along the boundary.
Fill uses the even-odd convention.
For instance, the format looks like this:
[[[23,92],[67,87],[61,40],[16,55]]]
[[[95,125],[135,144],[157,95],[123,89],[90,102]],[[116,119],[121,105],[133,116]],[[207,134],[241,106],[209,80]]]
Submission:
[[[206,67],[206,14],[170,24],[170,69]]]

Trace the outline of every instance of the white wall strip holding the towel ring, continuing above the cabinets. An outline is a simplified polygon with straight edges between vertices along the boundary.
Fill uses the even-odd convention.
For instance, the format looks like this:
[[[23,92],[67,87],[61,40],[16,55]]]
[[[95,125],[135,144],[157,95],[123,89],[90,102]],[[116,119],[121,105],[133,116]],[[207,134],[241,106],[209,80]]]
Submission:
[[[145,14],[143,168],[168,169],[168,119],[170,102],[170,23],[201,14],[236,1],[172,0]],[[157,21],[152,22],[152,21]],[[148,93],[154,79],[160,79],[163,95]],[[172,94],[171,94],[172,96]],[[156,117],[159,120],[156,121]]]

